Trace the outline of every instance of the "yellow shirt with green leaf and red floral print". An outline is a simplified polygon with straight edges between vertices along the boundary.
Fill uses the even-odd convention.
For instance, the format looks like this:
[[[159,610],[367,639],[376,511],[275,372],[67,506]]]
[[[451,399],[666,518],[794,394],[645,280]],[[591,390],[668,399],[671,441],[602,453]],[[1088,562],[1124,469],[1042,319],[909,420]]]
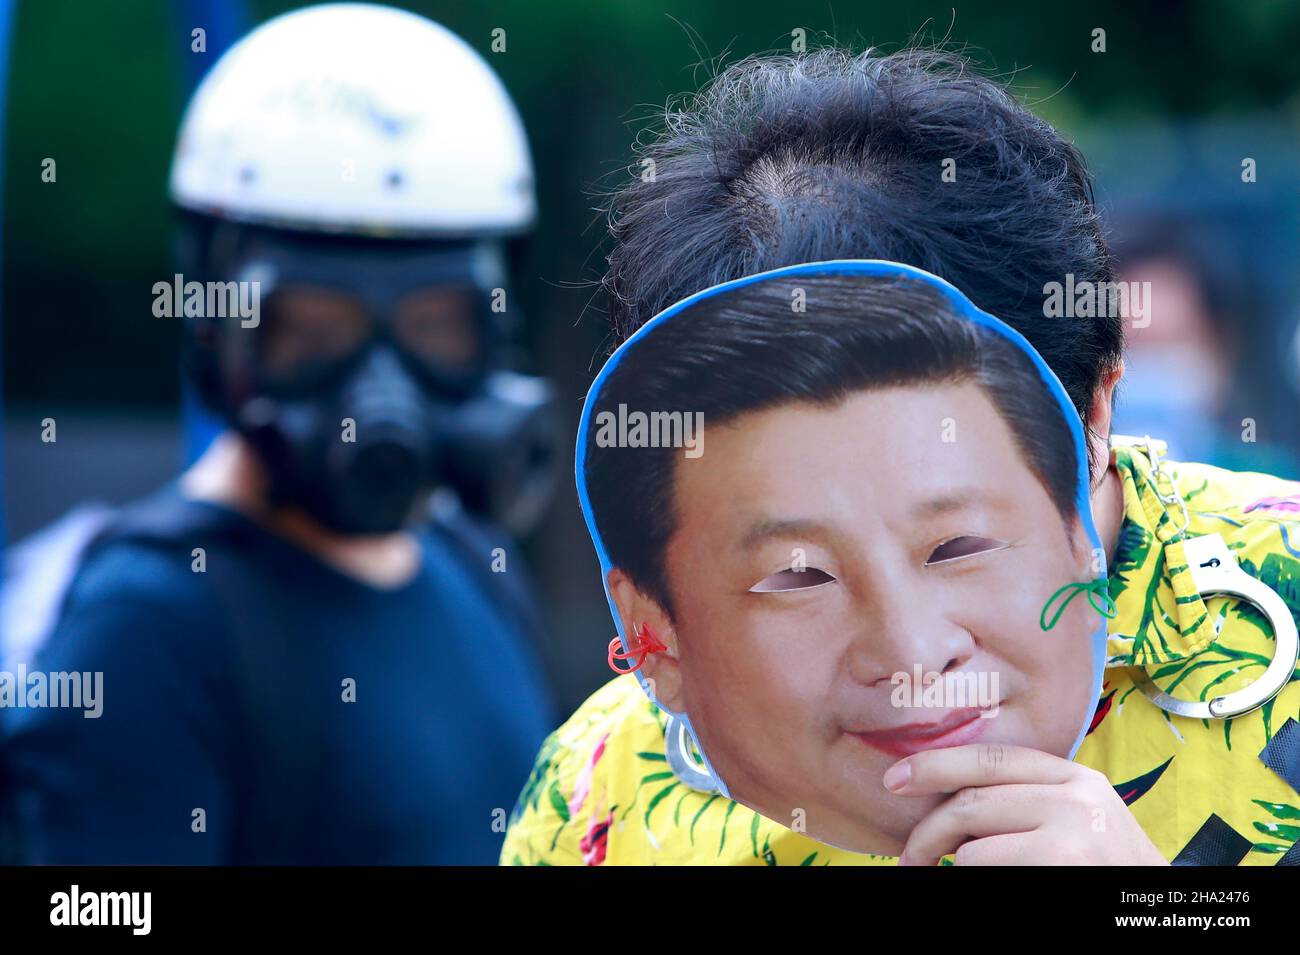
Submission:
[[[1124,495],[1110,568],[1118,613],[1075,761],[1110,780],[1169,860],[1300,864],[1300,672],[1269,703],[1231,720],[1173,716],[1134,682],[1145,672],[1166,693],[1205,700],[1249,683],[1274,652],[1271,628],[1252,604],[1200,598],[1174,539],[1180,511],[1157,494],[1145,448],[1112,442]],[[1173,473],[1186,502],[1187,537],[1221,534],[1242,569],[1300,618],[1300,483],[1164,459],[1160,468]],[[633,677],[593,694],[542,745],[502,863],[896,864],[822,845],[690,789],[668,768],[664,722]]]

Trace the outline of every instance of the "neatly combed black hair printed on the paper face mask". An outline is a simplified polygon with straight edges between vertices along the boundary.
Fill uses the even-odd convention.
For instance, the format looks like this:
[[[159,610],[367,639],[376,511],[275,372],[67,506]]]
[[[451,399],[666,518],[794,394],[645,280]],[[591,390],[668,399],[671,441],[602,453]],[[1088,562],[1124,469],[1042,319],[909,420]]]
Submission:
[[[806,311],[794,312],[800,290]],[[870,388],[963,382],[989,396],[1062,521],[1072,525],[1079,453],[1061,403],[1027,351],[958,316],[935,287],[894,277],[800,275],[689,307],[628,347],[588,421],[582,466],[610,561],[672,613],[664,552],[677,529],[675,466],[682,450],[602,447],[595,433],[606,412],[616,418],[625,405],[647,417],[699,413],[707,429],[790,403],[831,408]],[[939,429],[936,422],[936,440]]]

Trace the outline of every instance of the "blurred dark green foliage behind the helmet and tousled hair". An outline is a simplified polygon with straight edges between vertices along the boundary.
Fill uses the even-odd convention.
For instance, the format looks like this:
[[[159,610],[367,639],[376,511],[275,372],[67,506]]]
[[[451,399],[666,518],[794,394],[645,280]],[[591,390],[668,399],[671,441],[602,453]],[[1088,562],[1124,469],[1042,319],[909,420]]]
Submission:
[[[299,4],[251,3],[255,19]],[[1066,130],[1108,120],[1294,112],[1296,0],[793,3],[590,0],[398,4],[498,69],[533,143],[542,223],[519,295],[540,364],[581,394],[603,339],[595,192],[644,122],[720,62],[789,49],[792,30],[897,48],[970,48]],[[170,274],[165,179],[190,30],[157,0],[21,3],[9,69],[4,385],[10,401],[157,404],[176,396],[177,330],[150,313]],[[494,27],[507,49],[491,53]],[[1091,52],[1092,31],[1106,52]],[[433,91],[430,91],[433,92]],[[40,181],[42,160],[57,182]],[[1135,157],[1141,161],[1141,157]]]

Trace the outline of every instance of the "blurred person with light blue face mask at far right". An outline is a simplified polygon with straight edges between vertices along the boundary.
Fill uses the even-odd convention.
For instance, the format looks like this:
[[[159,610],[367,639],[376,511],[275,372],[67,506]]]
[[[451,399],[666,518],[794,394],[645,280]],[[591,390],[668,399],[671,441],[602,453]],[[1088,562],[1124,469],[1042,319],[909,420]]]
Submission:
[[[1149,301],[1130,325],[1115,430],[1157,435],[1184,460],[1300,478],[1300,461],[1268,437],[1266,339],[1251,322],[1258,305],[1231,243],[1180,217],[1117,233],[1115,278],[1148,288]]]

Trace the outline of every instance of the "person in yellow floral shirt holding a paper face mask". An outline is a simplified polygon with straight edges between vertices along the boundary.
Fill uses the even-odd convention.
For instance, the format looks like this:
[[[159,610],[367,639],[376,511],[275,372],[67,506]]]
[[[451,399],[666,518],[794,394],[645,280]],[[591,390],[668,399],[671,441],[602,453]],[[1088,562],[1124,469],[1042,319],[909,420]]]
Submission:
[[[611,200],[618,350],[580,429],[578,502],[618,626],[590,652],[620,674],[542,745],[502,863],[1300,864],[1300,483],[1113,433],[1122,316],[1045,299],[1052,283],[1115,277],[1083,157],[940,51],[751,57],[673,103],[638,148],[655,175]],[[945,182],[952,157],[961,172]],[[888,388],[859,394],[883,350],[838,343],[887,327],[870,321],[883,309],[862,290],[829,307],[814,283],[855,261],[942,281],[1023,335],[1060,382],[1082,429],[1096,590],[1057,570],[1053,591],[1040,577],[1050,547],[1023,572],[1001,560],[1024,548],[948,551],[954,535],[1013,543],[1017,531],[926,533],[927,511],[989,499],[972,492],[970,453],[988,455],[1001,494],[1026,489],[1008,512],[1060,535],[1069,509],[1019,482],[1035,455],[1057,466],[1062,455],[971,430],[982,399],[945,398],[952,376],[896,390],[896,404]],[[909,351],[939,338],[923,340]],[[638,368],[656,342],[659,360]],[[770,356],[757,360],[760,346]],[[906,363],[909,377],[931,364]],[[822,377],[828,365],[846,374]],[[606,400],[619,407],[602,437]],[[653,424],[633,440],[623,403],[642,421],[680,409],[703,425],[689,442],[670,430],[655,444]],[[685,453],[646,451],[663,447]],[[965,489],[936,494],[958,477]],[[994,568],[1009,576],[983,578],[970,600],[989,621],[963,620],[963,586]],[[788,577],[807,583],[780,592]],[[1058,629],[1084,600],[1106,617],[1091,685],[1070,660],[1079,631]],[[1020,677],[989,659],[1000,647],[1024,661]],[[928,717],[893,712],[914,698],[887,703],[883,690],[916,668],[922,681],[997,674],[1008,693],[993,725],[949,700]],[[1062,728],[1078,750],[1049,738]]]

